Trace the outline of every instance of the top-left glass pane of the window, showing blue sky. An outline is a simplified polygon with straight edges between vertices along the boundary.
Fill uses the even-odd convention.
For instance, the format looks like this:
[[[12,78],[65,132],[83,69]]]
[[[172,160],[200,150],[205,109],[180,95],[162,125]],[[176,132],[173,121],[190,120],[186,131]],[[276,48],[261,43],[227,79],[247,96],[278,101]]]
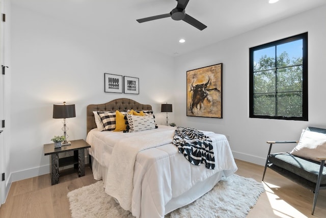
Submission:
[[[254,71],[275,68],[275,46],[254,51]]]

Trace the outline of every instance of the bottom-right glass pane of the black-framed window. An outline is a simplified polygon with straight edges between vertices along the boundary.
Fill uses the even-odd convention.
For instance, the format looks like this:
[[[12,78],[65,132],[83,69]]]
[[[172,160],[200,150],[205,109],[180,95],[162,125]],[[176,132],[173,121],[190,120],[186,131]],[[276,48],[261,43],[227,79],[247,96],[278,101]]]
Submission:
[[[302,92],[278,95],[278,116],[302,116]]]

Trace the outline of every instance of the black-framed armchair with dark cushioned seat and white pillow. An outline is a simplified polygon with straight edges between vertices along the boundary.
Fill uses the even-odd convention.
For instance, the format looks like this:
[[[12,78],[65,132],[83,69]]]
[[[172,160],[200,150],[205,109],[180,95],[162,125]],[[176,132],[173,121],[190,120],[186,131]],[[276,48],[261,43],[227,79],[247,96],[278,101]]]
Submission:
[[[267,141],[269,150],[263,178],[267,167],[280,175],[314,192],[314,214],[318,191],[326,187],[326,129],[308,127],[303,130],[300,141]],[[270,153],[274,144],[297,143],[291,152]]]

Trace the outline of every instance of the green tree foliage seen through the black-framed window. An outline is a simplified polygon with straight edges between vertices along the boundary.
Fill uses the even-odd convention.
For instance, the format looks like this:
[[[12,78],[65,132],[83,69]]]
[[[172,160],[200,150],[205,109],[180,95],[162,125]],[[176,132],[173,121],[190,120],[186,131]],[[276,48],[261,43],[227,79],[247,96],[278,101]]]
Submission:
[[[254,114],[302,116],[302,57],[262,56],[254,65]]]

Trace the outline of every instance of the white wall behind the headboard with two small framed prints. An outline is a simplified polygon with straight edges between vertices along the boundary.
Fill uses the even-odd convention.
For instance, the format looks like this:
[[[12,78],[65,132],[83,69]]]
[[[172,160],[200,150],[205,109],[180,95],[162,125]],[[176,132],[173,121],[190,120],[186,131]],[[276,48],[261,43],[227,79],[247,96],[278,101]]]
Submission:
[[[171,102],[173,59],[79,29],[12,5],[11,181],[49,173],[43,144],[62,134],[52,105],[73,103],[69,139],[86,139],[86,107],[117,98],[151,104],[164,124],[160,104]],[[104,72],[138,77],[140,94],[104,93]]]

